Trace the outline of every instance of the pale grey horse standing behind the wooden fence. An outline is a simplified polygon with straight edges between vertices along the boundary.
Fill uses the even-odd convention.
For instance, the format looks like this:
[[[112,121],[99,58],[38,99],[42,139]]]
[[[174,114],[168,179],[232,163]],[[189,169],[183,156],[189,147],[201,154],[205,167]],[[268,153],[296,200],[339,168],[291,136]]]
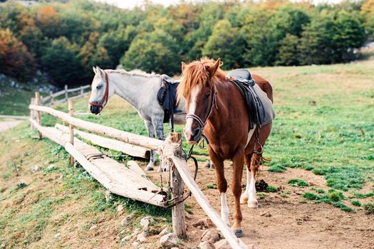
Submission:
[[[123,69],[103,70],[96,66],[93,68],[95,76],[91,84],[91,95],[88,107],[90,112],[101,112],[109,98],[117,94],[130,103],[139,116],[144,120],[149,137],[165,139],[164,137],[164,110],[157,101],[157,92],[162,84],[162,77],[155,73],[145,73],[142,70],[126,71]],[[108,84],[105,78],[108,79]],[[181,100],[177,110],[182,112],[175,114],[175,124],[185,123],[185,101]],[[156,161],[155,152],[150,153],[150,162],[145,170],[153,170]],[[159,171],[161,170],[161,166]]]

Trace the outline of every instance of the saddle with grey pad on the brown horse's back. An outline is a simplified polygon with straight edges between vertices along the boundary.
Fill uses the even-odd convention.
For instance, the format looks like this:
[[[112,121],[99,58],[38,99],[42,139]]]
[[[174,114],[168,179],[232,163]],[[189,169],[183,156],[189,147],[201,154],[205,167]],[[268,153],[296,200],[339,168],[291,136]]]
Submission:
[[[237,86],[244,97],[250,117],[249,129],[253,129],[254,124],[261,127],[274,120],[273,103],[266,93],[259,88],[259,85],[256,85],[249,70],[244,68],[232,70],[226,77]]]

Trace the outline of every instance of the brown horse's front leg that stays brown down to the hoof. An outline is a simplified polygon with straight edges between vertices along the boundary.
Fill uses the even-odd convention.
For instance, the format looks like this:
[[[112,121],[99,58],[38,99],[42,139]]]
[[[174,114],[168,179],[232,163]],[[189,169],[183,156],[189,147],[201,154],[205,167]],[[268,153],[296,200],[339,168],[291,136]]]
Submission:
[[[233,171],[232,171],[232,194],[235,198],[235,210],[234,210],[234,224],[232,225],[232,231],[238,238],[243,236],[243,230],[241,229],[241,216],[240,209],[240,196],[241,196],[241,176],[243,175],[243,163],[244,163],[244,149],[239,149],[232,158]]]

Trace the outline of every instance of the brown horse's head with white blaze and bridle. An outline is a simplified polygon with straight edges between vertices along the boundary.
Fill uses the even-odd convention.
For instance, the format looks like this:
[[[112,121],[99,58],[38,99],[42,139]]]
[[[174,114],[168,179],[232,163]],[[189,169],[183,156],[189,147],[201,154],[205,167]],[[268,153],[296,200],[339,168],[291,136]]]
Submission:
[[[185,137],[189,144],[197,144],[202,136],[202,129],[207,123],[216,100],[215,83],[218,78],[225,78],[219,69],[221,60],[202,58],[188,65],[182,63],[182,82],[178,86],[178,99],[185,97],[187,116]]]

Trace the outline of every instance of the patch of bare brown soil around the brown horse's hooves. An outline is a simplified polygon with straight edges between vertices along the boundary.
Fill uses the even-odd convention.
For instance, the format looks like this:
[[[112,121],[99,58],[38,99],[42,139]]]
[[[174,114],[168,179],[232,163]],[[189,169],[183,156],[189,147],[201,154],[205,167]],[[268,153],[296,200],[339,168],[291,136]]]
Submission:
[[[277,193],[266,193],[265,198],[258,198],[259,208],[248,208],[241,205],[243,214],[242,228],[244,242],[254,243],[258,248],[374,248],[373,216],[367,216],[363,211],[347,213],[324,203],[306,202],[302,197],[309,188],[289,186],[292,178],[308,181],[311,186],[327,190],[323,176],[316,176],[311,171],[303,169],[287,169],[284,173],[271,173],[261,166],[257,180],[264,179],[267,184],[277,186]],[[191,166],[191,170],[192,166]],[[225,164],[227,181],[232,181],[232,166]],[[154,181],[159,177],[153,174]],[[156,178],[157,177],[157,178]],[[244,182],[244,181],[243,181]],[[219,191],[208,189],[208,184],[216,183],[214,170],[200,168],[197,183],[219,213]],[[291,191],[291,194],[281,193]],[[233,221],[234,197],[228,189],[230,221]],[[207,218],[202,208],[193,197],[187,199],[192,206],[193,214],[187,219],[188,240],[185,248],[196,248],[206,228],[194,227],[202,218]],[[211,226],[214,228],[214,226]]]

